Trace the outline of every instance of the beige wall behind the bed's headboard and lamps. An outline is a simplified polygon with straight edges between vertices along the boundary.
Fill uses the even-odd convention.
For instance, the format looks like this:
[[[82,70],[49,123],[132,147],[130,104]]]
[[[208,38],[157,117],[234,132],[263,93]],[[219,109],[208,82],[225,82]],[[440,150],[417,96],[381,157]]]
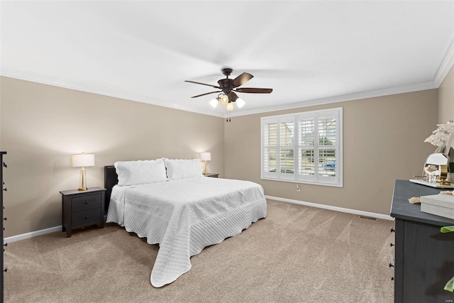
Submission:
[[[70,155],[96,154],[89,187],[117,160],[198,158],[223,175],[224,120],[162,106],[1,77],[5,236],[61,225],[60,190],[79,186]]]

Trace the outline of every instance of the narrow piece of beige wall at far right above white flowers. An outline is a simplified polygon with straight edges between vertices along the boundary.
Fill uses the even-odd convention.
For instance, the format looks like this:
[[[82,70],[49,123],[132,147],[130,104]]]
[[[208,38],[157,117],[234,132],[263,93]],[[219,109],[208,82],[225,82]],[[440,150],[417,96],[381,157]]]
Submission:
[[[454,121],[454,66],[438,87],[438,123]]]

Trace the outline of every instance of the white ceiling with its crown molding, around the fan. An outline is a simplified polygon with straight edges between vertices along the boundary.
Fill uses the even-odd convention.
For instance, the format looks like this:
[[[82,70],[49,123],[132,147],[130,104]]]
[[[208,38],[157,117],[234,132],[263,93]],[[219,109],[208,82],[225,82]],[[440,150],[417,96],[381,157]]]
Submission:
[[[232,116],[436,88],[454,1],[1,1],[1,75],[202,114],[221,68],[254,75]]]

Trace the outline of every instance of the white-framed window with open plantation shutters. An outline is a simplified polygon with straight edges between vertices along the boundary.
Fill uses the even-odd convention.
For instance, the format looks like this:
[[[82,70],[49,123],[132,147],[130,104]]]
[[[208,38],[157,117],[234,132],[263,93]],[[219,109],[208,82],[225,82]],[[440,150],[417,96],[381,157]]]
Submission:
[[[262,118],[262,179],[342,187],[342,108]]]

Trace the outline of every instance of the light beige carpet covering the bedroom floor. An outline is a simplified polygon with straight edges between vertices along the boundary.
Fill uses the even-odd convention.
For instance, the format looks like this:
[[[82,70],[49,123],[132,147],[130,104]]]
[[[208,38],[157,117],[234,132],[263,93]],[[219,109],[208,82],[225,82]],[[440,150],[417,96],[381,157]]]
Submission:
[[[116,224],[10,243],[5,302],[393,302],[393,221],[268,201],[268,214],[155,288],[158,246]]]

